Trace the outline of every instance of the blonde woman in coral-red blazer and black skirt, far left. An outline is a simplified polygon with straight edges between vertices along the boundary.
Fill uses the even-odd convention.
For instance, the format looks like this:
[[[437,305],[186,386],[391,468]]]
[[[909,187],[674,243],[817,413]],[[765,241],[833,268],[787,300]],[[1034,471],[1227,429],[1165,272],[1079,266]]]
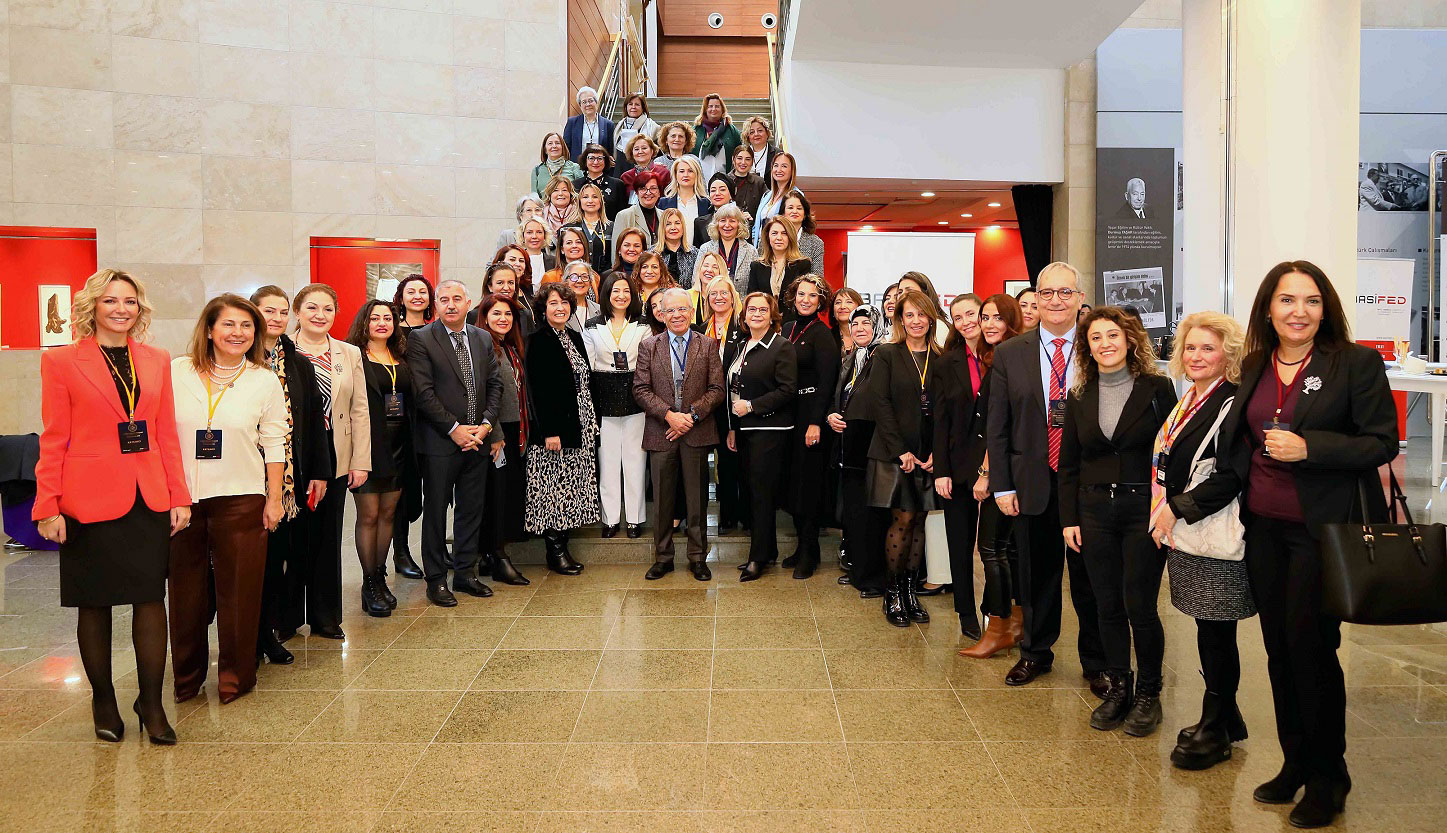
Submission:
[[[181,469],[171,357],[148,347],[150,304],[139,281],[101,269],[75,295],[75,343],[41,357],[41,461],[33,519],[61,545],[61,605],[78,607],[96,736],[126,723],[110,672],[110,609],[132,605],[140,697],[152,743],[175,743],[161,704],[166,668],[169,537],[191,521]]]

